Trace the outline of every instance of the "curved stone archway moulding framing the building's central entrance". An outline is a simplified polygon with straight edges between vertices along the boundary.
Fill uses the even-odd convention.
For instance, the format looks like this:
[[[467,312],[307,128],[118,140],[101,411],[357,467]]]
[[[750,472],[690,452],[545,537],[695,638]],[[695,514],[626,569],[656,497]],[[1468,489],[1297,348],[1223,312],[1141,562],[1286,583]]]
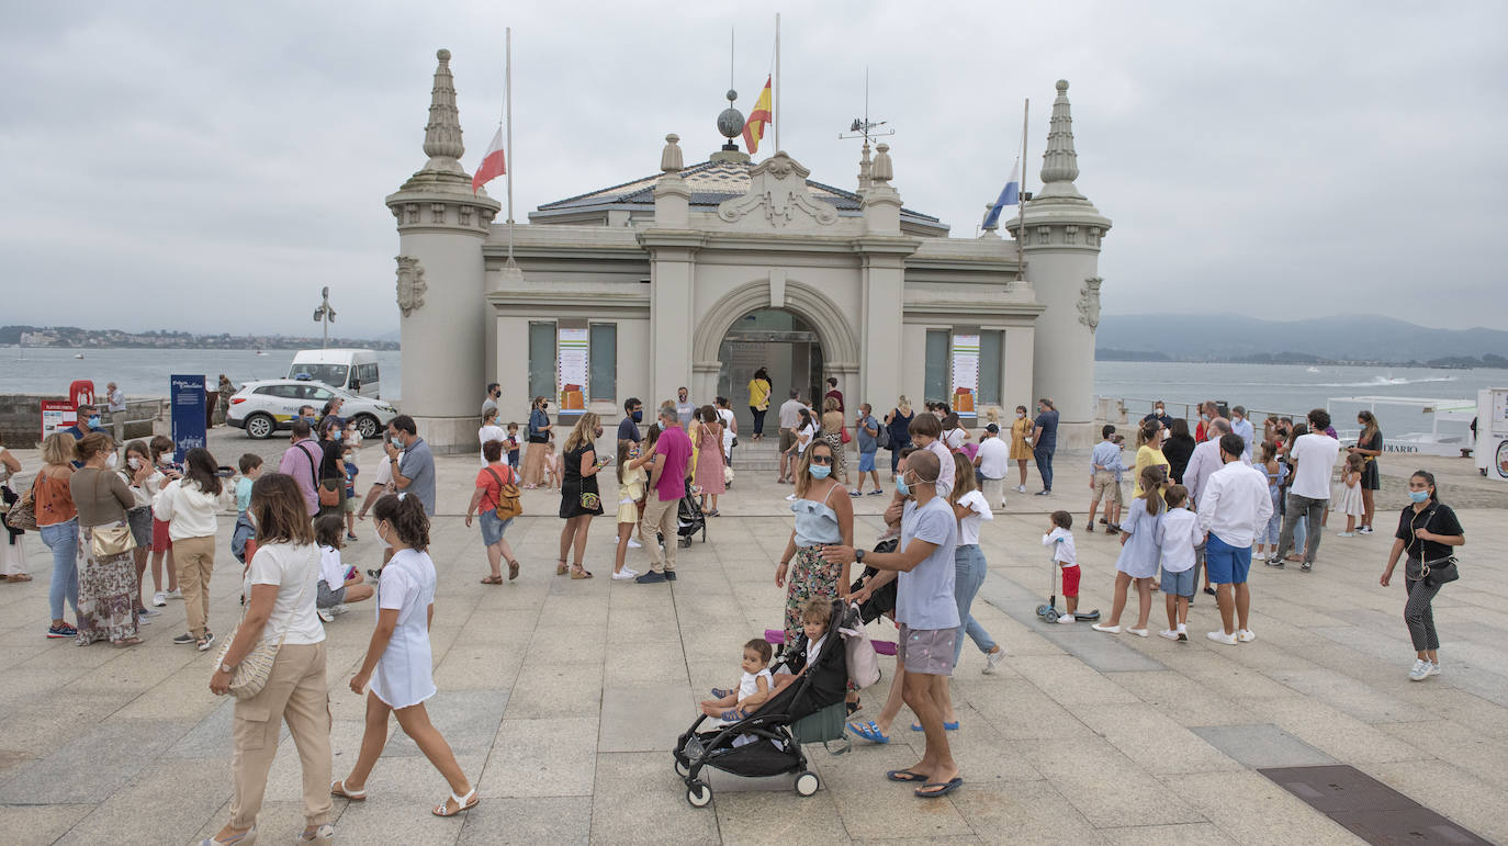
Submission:
[[[817,335],[822,347],[823,369],[838,379],[844,397],[858,389],[860,345],[847,317],[822,291],[802,282],[786,280],[781,293],[772,296],[771,280],[756,279],[733,288],[719,299],[697,323],[692,335],[692,382],[694,395],[713,397],[718,391],[718,375],[722,360],[718,356],[722,341],[733,324],[743,315],[760,309],[781,309],[799,317]],[[784,401],[784,395],[772,398],[772,406]]]

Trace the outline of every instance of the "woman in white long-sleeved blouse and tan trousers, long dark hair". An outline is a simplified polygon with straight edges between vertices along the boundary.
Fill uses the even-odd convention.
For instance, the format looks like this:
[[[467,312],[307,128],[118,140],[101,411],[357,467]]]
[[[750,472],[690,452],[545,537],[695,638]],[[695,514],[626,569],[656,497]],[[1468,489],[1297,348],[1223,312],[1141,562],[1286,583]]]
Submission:
[[[184,475],[152,498],[152,514],[167,523],[173,541],[173,566],[178,587],[188,612],[188,632],[173,638],[175,644],[195,644],[199,651],[210,648],[210,573],[214,572],[216,514],[229,508],[234,493],[220,481],[214,455],[195,446],[184,455]]]

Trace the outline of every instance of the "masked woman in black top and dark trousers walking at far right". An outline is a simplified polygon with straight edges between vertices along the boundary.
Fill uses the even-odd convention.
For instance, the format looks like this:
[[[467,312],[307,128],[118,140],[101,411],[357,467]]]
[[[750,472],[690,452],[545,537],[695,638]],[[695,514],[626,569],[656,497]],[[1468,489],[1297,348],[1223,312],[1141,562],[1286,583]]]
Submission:
[[[1415,647],[1415,665],[1408,670],[1408,680],[1424,682],[1430,676],[1440,674],[1440,635],[1434,630],[1434,609],[1430,603],[1445,584],[1440,575],[1446,569],[1455,570],[1452,562],[1455,547],[1466,544],[1466,532],[1455,519],[1455,511],[1440,502],[1436,493],[1433,474],[1418,471],[1408,477],[1408,505],[1398,514],[1398,531],[1393,538],[1393,549],[1387,555],[1387,567],[1378,584],[1386,588],[1392,582],[1393,567],[1407,552],[1404,587],[1408,591],[1408,602],[1404,603],[1404,623]]]

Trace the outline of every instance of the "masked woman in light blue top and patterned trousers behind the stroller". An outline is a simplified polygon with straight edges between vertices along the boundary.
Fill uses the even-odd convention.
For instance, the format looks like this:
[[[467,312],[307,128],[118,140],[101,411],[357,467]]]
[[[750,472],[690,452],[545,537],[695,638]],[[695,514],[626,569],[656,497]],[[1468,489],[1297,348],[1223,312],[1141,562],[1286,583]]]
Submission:
[[[854,504],[832,478],[832,446],[814,442],[796,463],[795,528],[775,569],[775,587],[786,590],[786,642],[796,642],[801,609],[813,597],[847,596],[849,566],[828,564],[822,549],[854,544]]]

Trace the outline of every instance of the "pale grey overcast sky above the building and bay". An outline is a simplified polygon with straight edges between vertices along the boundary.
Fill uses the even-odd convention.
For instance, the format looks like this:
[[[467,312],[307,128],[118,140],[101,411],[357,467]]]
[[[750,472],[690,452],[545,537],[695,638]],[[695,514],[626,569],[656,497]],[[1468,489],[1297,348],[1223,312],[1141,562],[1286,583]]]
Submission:
[[[769,11],[769,14],[765,12]],[[716,149],[737,26],[746,113],[772,6],[30,3],[0,29],[0,323],[394,332],[383,196],[425,160],[454,53],[474,169],[514,41],[516,216]],[[1371,312],[1503,327],[1508,5],[802,3],[781,146],[854,187],[864,107],[906,205],[973,237],[1031,98],[1039,184],[1068,78],[1080,190],[1114,220],[1107,314]],[[768,152],[762,148],[762,154]],[[763,157],[763,155],[762,155]],[[490,189],[502,196],[502,182]]]

